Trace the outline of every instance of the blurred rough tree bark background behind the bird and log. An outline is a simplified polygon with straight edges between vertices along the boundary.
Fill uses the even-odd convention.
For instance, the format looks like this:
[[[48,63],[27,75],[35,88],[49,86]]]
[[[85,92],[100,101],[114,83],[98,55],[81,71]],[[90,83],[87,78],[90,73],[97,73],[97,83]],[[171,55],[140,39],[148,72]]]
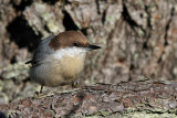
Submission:
[[[40,89],[24,63],[42,39],[67,30],[103,47],[87,54],[84,85],[177,79],[176,0],[0,0],[0,104]]]

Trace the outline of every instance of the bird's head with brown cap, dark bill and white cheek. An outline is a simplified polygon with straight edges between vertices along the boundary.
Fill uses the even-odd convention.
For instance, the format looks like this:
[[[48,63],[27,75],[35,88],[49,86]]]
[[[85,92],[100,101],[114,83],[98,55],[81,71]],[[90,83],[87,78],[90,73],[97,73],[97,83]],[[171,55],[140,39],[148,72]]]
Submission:
[[[49,46],[60,54],[75,55],[98,50],[101,46],[90,44],[87,39],[77,31],[66,31],[54,36]]]

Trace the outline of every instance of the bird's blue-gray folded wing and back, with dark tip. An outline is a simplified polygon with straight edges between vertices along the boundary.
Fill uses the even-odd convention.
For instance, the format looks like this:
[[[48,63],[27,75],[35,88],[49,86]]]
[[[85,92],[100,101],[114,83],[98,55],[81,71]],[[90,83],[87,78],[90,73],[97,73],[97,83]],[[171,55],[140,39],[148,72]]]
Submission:
[[[31,63],[32,66],[37,66],[39,64],[42,63],[42,61],[50,54],[53,53],[53,51],[51,50],[51,47],[49,46],[49,43],[51,41],[51,39],[53,39],[54,35],[52,36],[49,36],[44,40],[41,41],[41,43],[39,44],[33,57],[32,57],[32,61],[29,61],[27,62],[25,64],[28,63]]]

